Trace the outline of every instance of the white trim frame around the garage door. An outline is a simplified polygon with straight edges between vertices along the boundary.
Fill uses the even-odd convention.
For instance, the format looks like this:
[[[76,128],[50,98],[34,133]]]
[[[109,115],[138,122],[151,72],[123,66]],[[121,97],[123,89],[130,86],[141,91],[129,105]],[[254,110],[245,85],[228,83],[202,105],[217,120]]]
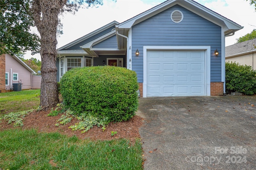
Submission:
[[[143,46],[143,97],[147,97],[147,51],[148,50],[204,50],[205,94],[210,96],[211,47],[210,46]]]

